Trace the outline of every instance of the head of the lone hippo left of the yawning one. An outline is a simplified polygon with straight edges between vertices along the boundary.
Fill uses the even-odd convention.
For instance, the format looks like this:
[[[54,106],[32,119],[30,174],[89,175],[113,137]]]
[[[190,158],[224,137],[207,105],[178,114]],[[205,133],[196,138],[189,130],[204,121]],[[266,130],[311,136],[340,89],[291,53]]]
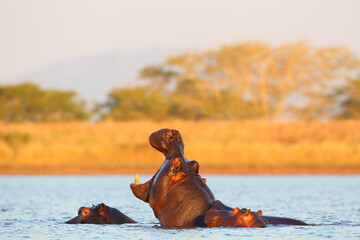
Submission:
[[[107,206],[104,203],[98,204],[91,208],[80,207],[78,216],[67,221],[66,223],[92,223],[92,224],[107,224],[110,222],[111,214],[107,210]]]

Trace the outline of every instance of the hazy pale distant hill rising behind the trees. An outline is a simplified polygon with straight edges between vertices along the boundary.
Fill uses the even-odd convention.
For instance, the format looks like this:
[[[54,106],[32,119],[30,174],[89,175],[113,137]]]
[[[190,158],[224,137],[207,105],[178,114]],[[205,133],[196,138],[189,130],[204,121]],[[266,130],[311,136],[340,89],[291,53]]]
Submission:
[[[32,81],[42,88],[75,90],[81,98],[89,102],[101,102],[113,88],[134,84],[142,67],[161,63],[168,56],[185,50],[185,48],[151,48],[110,51],[54,63],[1,82],[14,84]]]

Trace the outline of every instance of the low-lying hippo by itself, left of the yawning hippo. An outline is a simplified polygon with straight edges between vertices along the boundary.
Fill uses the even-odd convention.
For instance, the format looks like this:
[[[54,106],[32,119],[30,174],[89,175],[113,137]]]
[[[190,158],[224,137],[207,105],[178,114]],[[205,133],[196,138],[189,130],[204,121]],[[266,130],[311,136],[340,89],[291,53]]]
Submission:
[[[106,206],[104,203],[96,206],[81,207],[78,211],[78,216],[67,221],[69,224],[90,223],[90,224],[123,224],[136,223],[116,208]]]

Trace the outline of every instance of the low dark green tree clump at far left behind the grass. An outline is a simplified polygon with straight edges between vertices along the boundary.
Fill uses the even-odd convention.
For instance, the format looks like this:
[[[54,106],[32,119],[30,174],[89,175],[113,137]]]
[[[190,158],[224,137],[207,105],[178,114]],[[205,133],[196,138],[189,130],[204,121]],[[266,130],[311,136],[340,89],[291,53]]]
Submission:
[[[86,104],[74,91],[42,90],[34,83],[0,86],[0,120],[43,122],[86,120]]]

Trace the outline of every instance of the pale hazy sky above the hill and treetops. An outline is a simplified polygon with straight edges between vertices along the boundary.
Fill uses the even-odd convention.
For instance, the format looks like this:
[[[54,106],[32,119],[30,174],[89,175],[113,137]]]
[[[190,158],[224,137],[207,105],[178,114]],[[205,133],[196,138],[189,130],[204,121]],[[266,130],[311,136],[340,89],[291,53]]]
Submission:
[[[307,40],[360,56],[359,29],[360,0],[0,0],[0,81],[79,56],[159,46]]]

